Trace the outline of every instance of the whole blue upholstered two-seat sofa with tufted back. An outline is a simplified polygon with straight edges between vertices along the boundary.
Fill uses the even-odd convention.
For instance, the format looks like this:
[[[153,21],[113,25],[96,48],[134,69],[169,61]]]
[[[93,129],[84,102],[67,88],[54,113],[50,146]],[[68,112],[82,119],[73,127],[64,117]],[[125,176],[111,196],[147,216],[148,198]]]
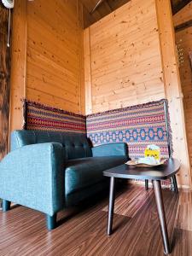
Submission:
[[[92,148],[82,134],[14,131],[11,152],[0,163],[3,211],[13,201],[44,212],[52,230],[57,212],[106,188],[102,172],[126,160],[125,143]]]

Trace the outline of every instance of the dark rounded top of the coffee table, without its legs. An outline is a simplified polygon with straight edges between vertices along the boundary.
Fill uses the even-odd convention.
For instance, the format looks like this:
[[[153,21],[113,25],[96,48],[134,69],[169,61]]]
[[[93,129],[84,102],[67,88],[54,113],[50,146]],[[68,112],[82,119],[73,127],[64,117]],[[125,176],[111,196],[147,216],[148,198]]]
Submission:
[[[141,167],[121,165],[103,172],[107,177],[164,180],[175,175],[180,169],[180,162],[170,158],[161,166]]]

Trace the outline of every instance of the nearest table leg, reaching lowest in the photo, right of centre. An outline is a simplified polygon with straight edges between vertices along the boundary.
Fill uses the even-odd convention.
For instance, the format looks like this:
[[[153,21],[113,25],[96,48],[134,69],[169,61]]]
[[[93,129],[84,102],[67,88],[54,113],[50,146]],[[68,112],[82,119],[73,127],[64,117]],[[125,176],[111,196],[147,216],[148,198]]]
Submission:
[[[166,226],[166,215],[163,205],[163,196],[161,191],[161,185],[160,180],[154,180],[154,195],[157,205],[157,211],[160,219],[160,231],[161,236],[163,239],[163,245],[164,245],[164,253],[169,254],[171,253],[170,245],[169,245],[169,237],[167,232],[167,226]]]

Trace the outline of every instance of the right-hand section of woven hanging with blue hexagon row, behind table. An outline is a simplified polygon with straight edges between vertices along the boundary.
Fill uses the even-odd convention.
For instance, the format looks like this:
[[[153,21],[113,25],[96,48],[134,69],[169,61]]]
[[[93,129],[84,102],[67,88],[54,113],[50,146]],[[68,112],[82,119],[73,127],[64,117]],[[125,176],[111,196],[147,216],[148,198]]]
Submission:
[[[172,132],[166,109],[166,100],[161,100],[90,114],[86,118],[87,136],[93,146],[127,143],[131,158],[142,157],[146,146],[154,143],[160,147],[161,156],[168,158]]]

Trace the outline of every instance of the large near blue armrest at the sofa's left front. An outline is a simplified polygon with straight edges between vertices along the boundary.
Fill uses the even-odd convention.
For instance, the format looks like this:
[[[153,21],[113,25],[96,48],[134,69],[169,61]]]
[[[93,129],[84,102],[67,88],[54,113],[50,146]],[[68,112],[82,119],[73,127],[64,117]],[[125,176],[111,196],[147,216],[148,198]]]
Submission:
[[[52,216],[64,204],[61,143],[38,143],[10,152],[0,163],[0,198]]]

